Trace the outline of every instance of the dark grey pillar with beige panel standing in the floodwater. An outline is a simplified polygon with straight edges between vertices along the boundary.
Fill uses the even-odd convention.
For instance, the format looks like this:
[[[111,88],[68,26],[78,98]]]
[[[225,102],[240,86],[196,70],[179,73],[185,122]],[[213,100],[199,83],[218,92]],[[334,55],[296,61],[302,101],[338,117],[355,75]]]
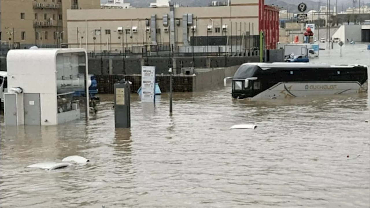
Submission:
[[[114,127],[130,128],[130,84],[122,79],[114,84]]]

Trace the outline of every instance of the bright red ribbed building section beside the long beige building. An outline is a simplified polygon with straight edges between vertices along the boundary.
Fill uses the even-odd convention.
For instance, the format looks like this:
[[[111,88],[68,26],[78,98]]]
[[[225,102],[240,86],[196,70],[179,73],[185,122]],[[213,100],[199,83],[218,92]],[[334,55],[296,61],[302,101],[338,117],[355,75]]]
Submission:
[[[266,49],[276,49],[279,41],[279,9],[258,0],[258,30],[263,31]]]

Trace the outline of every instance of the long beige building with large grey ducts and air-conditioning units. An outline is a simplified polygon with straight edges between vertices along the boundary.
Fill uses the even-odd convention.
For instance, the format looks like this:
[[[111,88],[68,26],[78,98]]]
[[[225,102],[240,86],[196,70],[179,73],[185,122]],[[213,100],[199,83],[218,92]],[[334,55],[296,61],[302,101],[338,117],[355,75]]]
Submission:
[[[231,0],[230,6],[68,10],[67,28],[69,47],[88,51],[100,45],[112,51],[189,46],[192,36],[258,35],[258,0]]]

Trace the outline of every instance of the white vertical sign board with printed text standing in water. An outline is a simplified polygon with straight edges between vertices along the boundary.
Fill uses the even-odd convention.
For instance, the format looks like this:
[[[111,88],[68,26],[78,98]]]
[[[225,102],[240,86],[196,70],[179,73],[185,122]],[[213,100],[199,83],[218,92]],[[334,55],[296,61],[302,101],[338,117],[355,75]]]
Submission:
[[[141,102],[155,101],[155,67],[141,67]]]

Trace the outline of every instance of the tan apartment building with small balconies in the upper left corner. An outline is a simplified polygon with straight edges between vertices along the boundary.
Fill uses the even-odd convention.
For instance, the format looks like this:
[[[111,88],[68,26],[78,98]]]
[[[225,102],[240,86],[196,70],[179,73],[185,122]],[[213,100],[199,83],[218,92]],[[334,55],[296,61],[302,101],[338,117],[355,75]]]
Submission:
[[[0,0],[0,44],[67,42],[67,9],[98,9],[100,0]]]

